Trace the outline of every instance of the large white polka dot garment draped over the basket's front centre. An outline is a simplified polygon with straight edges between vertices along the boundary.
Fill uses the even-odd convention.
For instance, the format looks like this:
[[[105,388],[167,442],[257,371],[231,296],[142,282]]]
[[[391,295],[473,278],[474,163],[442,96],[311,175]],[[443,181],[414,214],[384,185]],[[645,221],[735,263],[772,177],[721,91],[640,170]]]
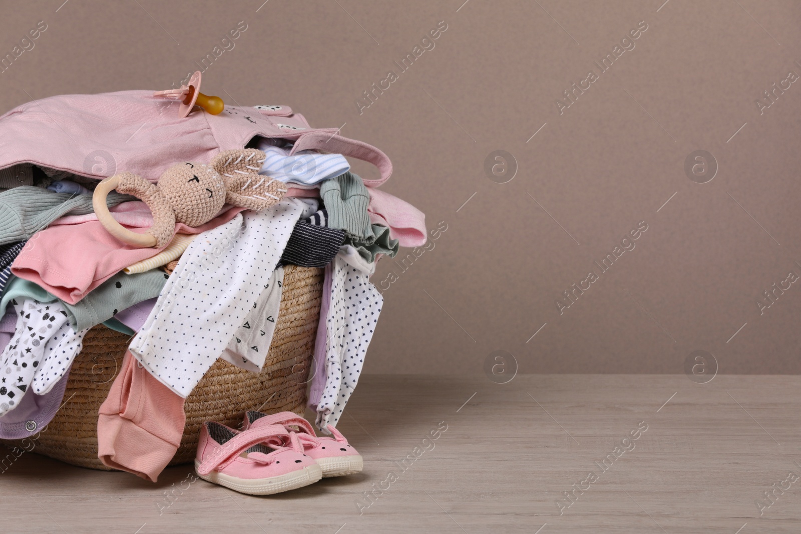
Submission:
[[[284,199],[200,234],[181,255],[131,354],[187,397],[269,283],[304,207]]]

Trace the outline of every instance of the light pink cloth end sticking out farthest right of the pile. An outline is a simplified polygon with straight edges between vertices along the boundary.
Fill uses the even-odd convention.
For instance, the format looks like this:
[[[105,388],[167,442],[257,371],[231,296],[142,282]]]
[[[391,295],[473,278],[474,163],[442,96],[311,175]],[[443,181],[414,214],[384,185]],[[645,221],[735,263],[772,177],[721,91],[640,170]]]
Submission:
[[[370,223],[389,227],[389,237],[401,247],[422,247],[428,241],[425,214],[408,202],[374,187],[368,187]]]

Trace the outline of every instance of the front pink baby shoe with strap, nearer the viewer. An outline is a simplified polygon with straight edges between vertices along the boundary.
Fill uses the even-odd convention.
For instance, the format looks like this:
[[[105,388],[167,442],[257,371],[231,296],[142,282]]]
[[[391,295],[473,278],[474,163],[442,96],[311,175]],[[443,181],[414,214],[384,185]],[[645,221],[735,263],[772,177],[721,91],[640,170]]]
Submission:
[[[316,461],[303,453],[300,440],[283,426],[239,432],[213,421],[200,429],[195,471],[203,480],[249,495],[302,488],[323,476]]]

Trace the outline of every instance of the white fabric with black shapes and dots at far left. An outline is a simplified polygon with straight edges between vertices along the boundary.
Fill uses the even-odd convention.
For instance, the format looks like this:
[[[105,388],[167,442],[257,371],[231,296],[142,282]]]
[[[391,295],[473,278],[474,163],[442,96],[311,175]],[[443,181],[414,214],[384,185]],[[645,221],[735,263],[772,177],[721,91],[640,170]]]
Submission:
[[[87,332],[73,331],[58,303],[14,299],[11,304],[17,325],[0,355],[0,416],[16,408],[29,387],[37,395],[50,391],[70,368]]]

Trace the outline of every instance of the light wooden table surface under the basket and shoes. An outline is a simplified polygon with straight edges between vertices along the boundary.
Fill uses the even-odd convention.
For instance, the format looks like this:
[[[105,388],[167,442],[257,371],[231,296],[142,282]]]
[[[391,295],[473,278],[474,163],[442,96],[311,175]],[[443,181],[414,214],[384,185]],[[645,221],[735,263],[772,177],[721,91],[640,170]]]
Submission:
[[[339,425],[359,475],[253,497],[25,453],[2,530],[797,533],[799,406],[799,376],[365,375]]]

